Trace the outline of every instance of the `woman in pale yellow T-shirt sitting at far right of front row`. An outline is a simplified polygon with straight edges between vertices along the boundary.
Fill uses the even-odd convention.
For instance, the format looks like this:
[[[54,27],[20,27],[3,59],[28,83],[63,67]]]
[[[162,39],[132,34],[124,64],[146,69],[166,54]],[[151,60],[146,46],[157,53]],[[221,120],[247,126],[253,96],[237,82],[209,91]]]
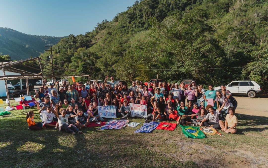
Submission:
[[[221,120],[219,120],[219,125],[221,126],[221,130],[225,131],[227,134],[231,133],[234,134],[236,133],[236,125],[237,125],[237,118],[234,115],[235,113],[235,108],[234,107],[229,107],[228,113],[225,117],[225,123]]]

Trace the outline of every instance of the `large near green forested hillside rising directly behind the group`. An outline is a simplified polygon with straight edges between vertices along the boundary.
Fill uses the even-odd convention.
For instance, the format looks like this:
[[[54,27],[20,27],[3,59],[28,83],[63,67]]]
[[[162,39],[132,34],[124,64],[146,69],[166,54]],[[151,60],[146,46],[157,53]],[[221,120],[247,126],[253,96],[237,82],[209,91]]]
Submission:
[[[265,0],[136,1],[93,31],[59,41],[54,64],[93,79],[148,81],[158,74],[215,85],[251,79],[267,87],[267,16]],[[41,57],[49,60],[49,53]]]

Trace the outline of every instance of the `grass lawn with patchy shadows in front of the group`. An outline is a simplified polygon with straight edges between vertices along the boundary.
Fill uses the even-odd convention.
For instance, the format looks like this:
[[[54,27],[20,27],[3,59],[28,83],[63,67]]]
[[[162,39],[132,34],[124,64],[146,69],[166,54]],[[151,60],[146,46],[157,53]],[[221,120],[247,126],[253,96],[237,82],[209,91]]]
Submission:
[[[11,105],[17,105],[12,101]],[[0,106],[5,108],[7,104]],[[36,108],[35,122],[40,122]],[[43,128],[28,131],[25,110],[0,116],[1,167],[267,167],[267,117],[236,114],[237,134],[186,138],[174,131],[134,133],[136,128],[97,130],[71,135]]]

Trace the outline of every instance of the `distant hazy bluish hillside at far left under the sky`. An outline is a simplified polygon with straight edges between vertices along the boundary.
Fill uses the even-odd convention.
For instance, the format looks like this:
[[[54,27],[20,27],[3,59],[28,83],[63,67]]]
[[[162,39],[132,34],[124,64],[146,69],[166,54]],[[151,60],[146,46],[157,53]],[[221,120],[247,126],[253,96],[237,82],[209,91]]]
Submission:
[[[45,45],[54,44],[61,38],[24,34],[10,28],[0,27],[0,53],[9,55],[12,60],[37,57],[44,52]]]

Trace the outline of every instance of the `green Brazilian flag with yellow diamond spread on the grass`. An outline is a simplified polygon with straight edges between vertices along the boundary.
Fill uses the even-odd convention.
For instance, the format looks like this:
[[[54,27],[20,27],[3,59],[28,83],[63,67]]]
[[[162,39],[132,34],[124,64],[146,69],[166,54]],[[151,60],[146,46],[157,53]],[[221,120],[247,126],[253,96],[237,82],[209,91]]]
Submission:
[[[191,127],[191,126],[181,126],[183,129],[183,134],[187,138],[205,138],[205,134],[199,130],[199,127]]]

